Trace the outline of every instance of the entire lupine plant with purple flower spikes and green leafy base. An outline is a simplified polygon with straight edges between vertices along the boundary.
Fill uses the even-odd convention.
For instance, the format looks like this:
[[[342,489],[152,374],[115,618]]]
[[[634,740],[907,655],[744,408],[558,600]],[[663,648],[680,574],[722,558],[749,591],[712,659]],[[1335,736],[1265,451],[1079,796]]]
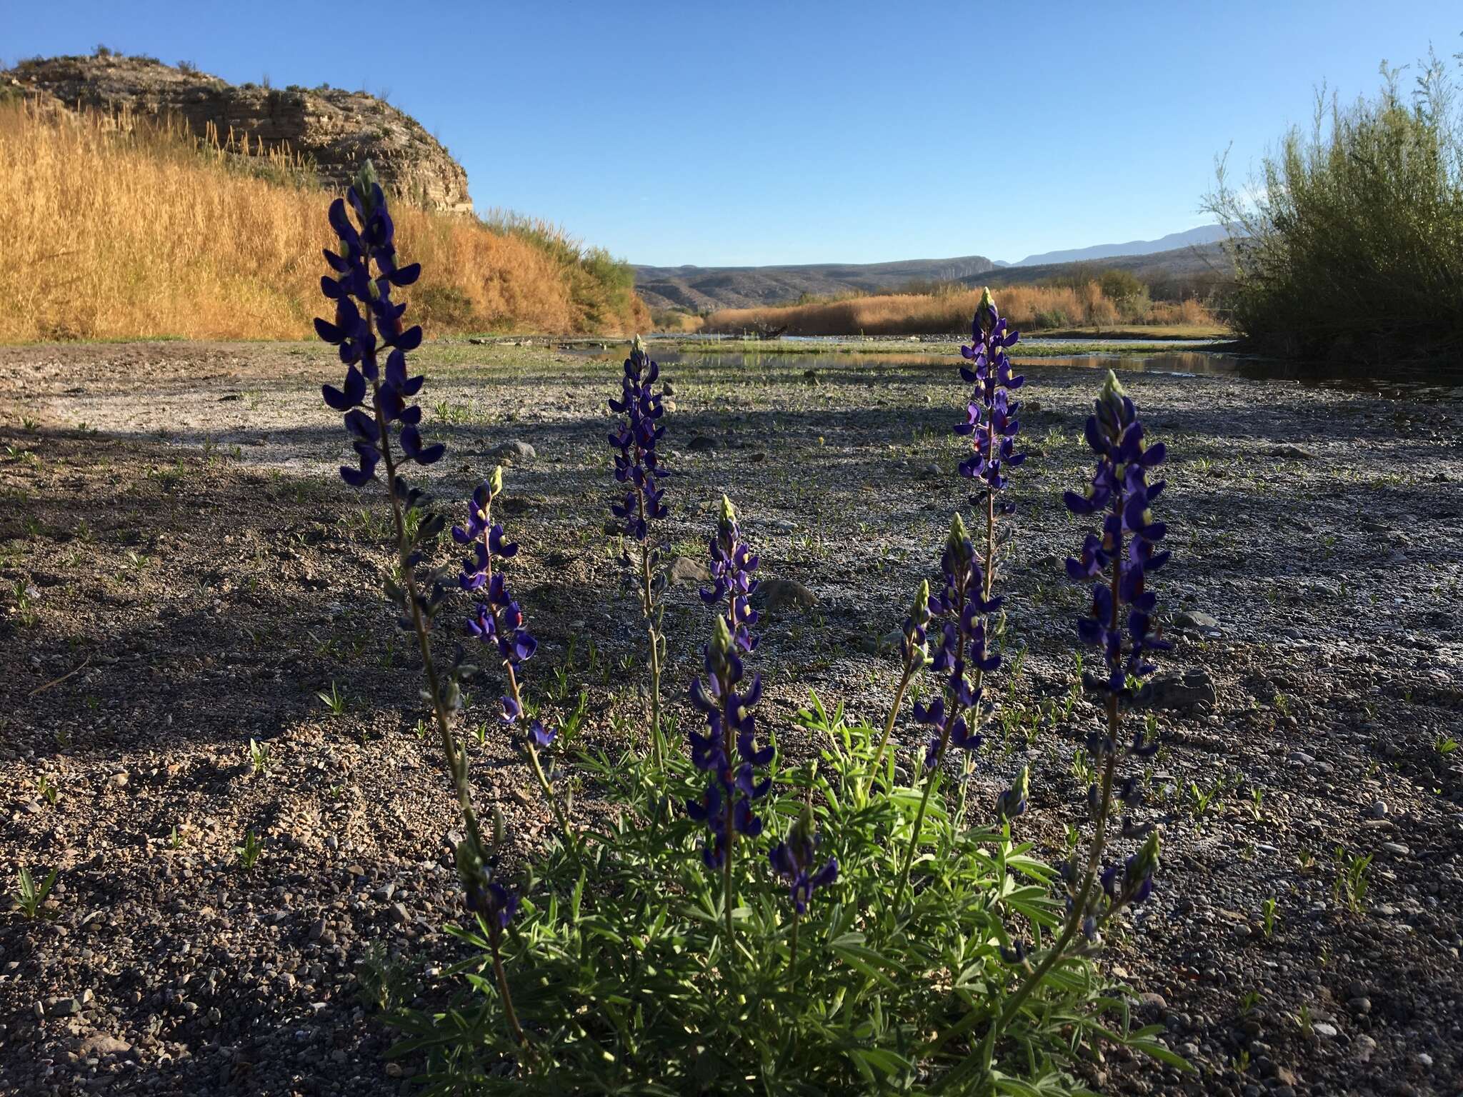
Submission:
[[[427,568],[445,519],[424,513],[426,496],[402,481],[399,467],[430,464],[442,448],[421,439],[420,408],[407,404],[421,379],[407,376],[405,354],[421,336],[402,329],[391,290],[415,271],[395,263],[385,196],[369,168],[332,205],[331,224],[341,250],[326,253],[336,274],[325,290],[336,312],[319,329],[341,348],[347,377],[325,395],[345,415],[357,455],[341,474],[363,486],[385,471],[398,543],[386,589],[417,636],[465,831],[455,856],[473,917],[449,926],[468,946],[446,973],[451,1000],[392,1012],[405,1036],[395,1052],[420,1056],[426,1093],[1067,1094],[1081,1090],[1078,1063],[1097,1043],[1182,1065],[1153,1038],[1156,1027],[1129,1027],[1121,990],[1106,987],[1090,960],[1103,923],[1147,897],[1157,860],[1150,834],[1135,854],[1103,867],[1112,800],[1137,802],[1135,784],[1115,784],[1118,758],[1151,750],[1141,731],[1125,750],[1118,743],[1122,711],[1150,670],[1147,654],[1162,648],[1144,576],[1166,559],[1154,547],[1163,527],[1148,513],[1162,486],[1144,478],[1162,449],[1143,448],[1135,411],[1115,380],[1088,424],[1100,455],[1093,490],[1075,503],[1107,515],[1105,534],[1069,565],[1083,578],[1113,570],[1109,595],[1097,592],[1103,582],[1094,587],[1096,625],[1081,630],[1107,660],[1109,724],[1091,742],[1102,774],[1096,834],[1086,873],[1067,872],[1065,910],[1062,873],[1011,834],[1009,821],[1027,809],[1024,769],[989,823],[966,825],[963,809],[935,796],[945,752],[969,753],[979,743],[983,676],[999,663],[989,644],[1001,601],[990,589],[995,518],[1005,510],[996,493],[1005,486],[1001,470],[1020,459],[1015,408],[1005,396],[1020,379],[1005,360],[1015,336],[989,295],[966,354],[979,388],[964,431],[974,434],[973,456],[963,465],[986,484],[985,553],[957,516],[939,588],[923,584],[906,617],[904,670],[882,734],[841,708],[830,712],[813,695],[797,723],[815,758],[793,765],[784,765],[775,737],[765,746],[756,739],[762,676],[748,676],[746,660],[758,646],[748,595],[759,560],[726,499],[710,538],[712,584],[702,592],[715,607],[712,635],[704,676],[688,696],[705,731],[691,733],[686,753],[664,750],[651,538],[651,522],[666,513],[655,453],[663,405],[652,389],[658,369],[636,341],[623,398],[612,401],[626,417],[612,442],[625,489],[614,515],[639,546],[651,756],[633,743],[617,756],[578,753],[607,810],[576,834],[554,796],[552,761],[543,762],[550,749],[566,756],[566,743],[534,717],[522,692],[537,644],[503,570],[516,546],[493,521],[500,470],[474,490],[467,521],[454,528],[470,551],[456,582],[451,569]],[[454,591],[473,595],[468,632],[496,652],[503,724],[563,829],[563,841],[535,850],[515,879],[490,856],[500,816],[494,812],[492,841],[480,832],[465,744],[452,733],[464,704],[459,682],[475,668],[461,652],[445,673],[433,663],[430,626],[461,597]],[[929,728],[925,766],[917,781],[901,784],[890,737],[928,661],[941,687],[916,709]],[[663,810],[673,797],[686,803],[685,813]],[[1138,838],[1143,828],[1125,819],[1122,834]],[[930,872],[909,886],[920,851]]]

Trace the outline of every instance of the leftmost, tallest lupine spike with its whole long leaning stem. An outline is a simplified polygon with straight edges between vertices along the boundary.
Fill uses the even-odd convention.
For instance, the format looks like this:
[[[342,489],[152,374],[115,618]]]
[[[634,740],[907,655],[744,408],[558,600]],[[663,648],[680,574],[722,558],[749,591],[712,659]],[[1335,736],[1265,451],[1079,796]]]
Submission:
[[[439,676],[429,633],[432,619],[446,597],[446,576],[440,572],[427,576],[426,594],[417,576],[424,550],[442,532],[445,519],[430,513],[414,529],[408,528],[408,510],[424,508],[427,496],[421,489],[408,486],[398,471],[401,459],[430,465],[443,453],[442,443],[423,442],[421,407],[408,402],[423,385],[423,377],[411,377],[407,370],[407,354],[421,345],[421,328],[405,328],[401,317],[407,306],[391,300],[394,288],[417,281],[421,266],[396,263],[395,228],[370,161],[361,165],[345,197],[331,203],[329,222],[339,238],[339,250],[325,252],[332,274],[320,278],[320,290],[335,303],[335,314],[331,320],[316,319],[315,331],[339,348],[345,366],[341,388],[325,385],[320,391],[326,405],[344,414],[345,431],[356,451],[357,464],[341,467],[341,478],[353,487],[364,487],[376,478],[377,468],[386,474],[399,563],[399,585],[388,581],[386,595],[396,604],[402,627],[417,638],[426,692],[467,832],[454,850],[458,875],[468,910],[490,927],[505,1012],[518,1041],[527,1044],[514,1015],[502,964],[497,962],[497,939],[518,908],[518,897],[489,878],[489,854],[473,807],[467,756],[458,749],[448,723],[448,714],[462,705],[459,679],[468,667],[459,652],[446,674]],[[385,363],[380,361],[382,353]],[[392,449],[394,440],[399,455]]]

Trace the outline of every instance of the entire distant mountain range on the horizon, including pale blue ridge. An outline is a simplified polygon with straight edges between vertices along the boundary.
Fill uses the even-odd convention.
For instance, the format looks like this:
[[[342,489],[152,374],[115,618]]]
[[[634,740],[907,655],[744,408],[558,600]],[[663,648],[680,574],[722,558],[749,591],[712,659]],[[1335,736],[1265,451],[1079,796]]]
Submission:
[[[1103,266],[1132,271],[1153,285],[1156,295],[1173,285],[1189,287],[1197,278],[1214,281],[1222,255],[1219,225],[1170,233],[1159,240],[1097,244],[1068,252],[1031,255],[1020,263],[1002,263],[971,255],[955,259],[904,259],[892,263],[800,263],[790,266],[636,266],[635,290],[651,309],[753,309],[790,304],[803,294],[815,297],[849,291],[900,290],[911,282],[966,282],[1012,285],[1053,278],[1064,266],[1102,260]]]

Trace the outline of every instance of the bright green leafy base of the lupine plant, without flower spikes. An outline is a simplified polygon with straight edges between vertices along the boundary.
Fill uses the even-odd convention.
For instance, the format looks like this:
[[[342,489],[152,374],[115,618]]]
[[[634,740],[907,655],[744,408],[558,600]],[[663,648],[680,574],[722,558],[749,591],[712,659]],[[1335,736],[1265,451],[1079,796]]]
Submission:
[[[689,759],[670,752],[657,771],[636,753],[585,758],[610,810],[593,841],[528,866],[503,935],[531,1049],[505,1015],[489,935],[455,929],[473,951],[451,973],[462,992],[446,1009],[392,1015],[405,1034],[395,1053],[426,1055],[426,1093],[1062,1094],[1099,1040],[1181,1065],[1157,1027],[1129,1027],[1124,989],[1081,955],[1002,1027],[1028,973],[1015,942],[1049,946],[1061,929],[1058,872],[1009,829],[977,825],[988,804],[967,816],[961,794],[933,797],[913,886],[891,910],[920,790],[900,783],[892,752],[873,771],[878,731],[841,709],[813,698],[800,723],[821,762],[774,762],[767,825],[783,834],[811,803],[818,857],[840,866],[802,919],[765,853],[742,856],[727,938],[705,828],[670,810],[705,784]]]

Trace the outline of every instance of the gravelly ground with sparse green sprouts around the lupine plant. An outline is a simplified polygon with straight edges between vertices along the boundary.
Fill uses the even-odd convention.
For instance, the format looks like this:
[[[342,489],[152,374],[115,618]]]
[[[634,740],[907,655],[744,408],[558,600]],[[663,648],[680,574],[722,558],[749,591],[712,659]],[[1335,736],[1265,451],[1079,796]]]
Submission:
[[[543,642],[530,689],[562,711],[582,689],[585,742],[617,742],[639,704],[638,619],[604,531],[617,361],[417,357],[429,433],[449,443],[439,497],[464,496],[496,446],[533,448],[508,470],[515,584]],[[772,600],[758,652],[794,753],[809,744],[787,717],[809,687],[870,717],[888,704],[879,638],[969,496],[952,361],[806,369],[672,364],[664,443],[670,554],[699,556],[727,491],[764,572],[799,584]],[[0,348],[0,873],[60,872],[47,917],[0,913],[0,1093],[408,1087],[375,1012],[458,955],[440,930],[458,911],[454,819],[379,595],[383,500],[332,472],[347,448],[317,385],[336,373],[313,345]],[[1074,690],[1084,598],[1061,559],[1081,527],[1059,491],[1087,477],[1099,377],[1027,376],[1040,410],[1023,415],[1033,456],[999,584],[1008,666],[1026,652],[974,780],[990,796],[1030,762],[1021,826],[1059,857],[1099,712]],[[1445,749],[1463,740],[1463,391],[1127,383],[1169,445],[1159,591],[1178,648],[1148,809],[1165,864],[1105,962],[1203,1074],[1119,1056],[1091,1081],[1463,1093],[1463,747]],[[669,597],[679,692],[707,617],[693,584]],[[338,714],[317,698],[332,685]],[[478,797],[531,850],[549,819],[528,777],[489,701],[468,720],[486,721]],[[257,766],[250,740],[268,747]],[[593,790],[578,804],[593,812]],[[236,851],[249,831],[252,870]],[[1374,859],[1355,904],[1337,847]]]

